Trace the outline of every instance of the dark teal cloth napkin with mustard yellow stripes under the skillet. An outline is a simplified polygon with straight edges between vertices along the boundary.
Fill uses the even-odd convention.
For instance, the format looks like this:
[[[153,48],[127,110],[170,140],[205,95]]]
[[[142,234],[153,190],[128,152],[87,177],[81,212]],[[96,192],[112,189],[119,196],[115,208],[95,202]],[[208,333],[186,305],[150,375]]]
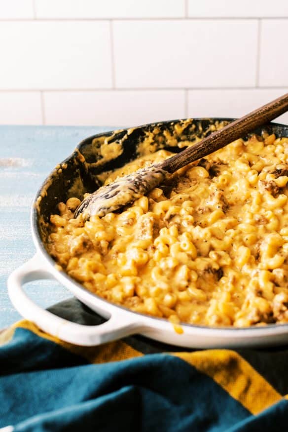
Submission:
[[[79,301],[50,311],[102,318]],[[0,335],[0,431],[288,431],[288,349],[181,351],[141,336],[79,347],[17,322]]]

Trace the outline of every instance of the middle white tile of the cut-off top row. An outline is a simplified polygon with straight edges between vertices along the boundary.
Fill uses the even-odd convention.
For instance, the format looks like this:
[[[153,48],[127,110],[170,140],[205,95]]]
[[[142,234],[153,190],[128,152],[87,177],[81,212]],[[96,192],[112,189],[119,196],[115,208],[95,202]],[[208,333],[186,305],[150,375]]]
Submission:
[[[183,17],[185,0],[36,0],[37,18]]]

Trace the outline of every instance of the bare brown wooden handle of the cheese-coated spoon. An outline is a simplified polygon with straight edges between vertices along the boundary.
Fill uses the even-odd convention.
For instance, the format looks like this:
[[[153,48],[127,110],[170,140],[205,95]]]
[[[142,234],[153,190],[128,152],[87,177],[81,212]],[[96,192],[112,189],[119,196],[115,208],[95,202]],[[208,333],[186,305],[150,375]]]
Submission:
[[[187,163],[194,162],[226,146],[232,141],[243,137],[258,126],[273,120],[288,111],[288,93],[278,99],[258,108],[242,118],[232,121],[227,126],[208,137],[204,138],[194,146],[180,152],[178,155],[169,157],[159,164],[159,167],[170,173],[177,171]]]

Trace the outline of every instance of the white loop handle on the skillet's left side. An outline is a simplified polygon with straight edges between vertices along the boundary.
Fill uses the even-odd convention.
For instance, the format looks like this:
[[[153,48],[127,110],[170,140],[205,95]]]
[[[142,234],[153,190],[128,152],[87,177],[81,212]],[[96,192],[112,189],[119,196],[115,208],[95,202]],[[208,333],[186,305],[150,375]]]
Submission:
[[[23,290],[26,282],[39,279],[55,279],[38,254],[8,277],[8,294],[15,309],[51,335],[81,346],[95,346],[137,333],[143,326],[133,318],[121,313],[112,314],[108,321],[99,325],[82,325],[42,309]]]

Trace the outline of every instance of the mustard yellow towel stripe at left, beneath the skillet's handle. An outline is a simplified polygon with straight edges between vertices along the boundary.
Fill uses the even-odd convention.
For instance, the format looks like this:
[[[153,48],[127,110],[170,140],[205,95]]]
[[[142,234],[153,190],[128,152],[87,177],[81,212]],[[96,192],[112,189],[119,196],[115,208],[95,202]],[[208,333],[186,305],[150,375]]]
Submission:
[[[55,344],[60,345],[62,348],[72,352],[73,354],[80,355],[90,363],[106,363],[108,361],[119,361],[126,360],[127,358],[140,357],[143,354],[139,351],[134,350],[130,345],[119,340],[115,342],[108,342],[98,347],[80,347],[78,345],[70,344],[69,342],[64,342],[48,333],[40,330],[31,321],[24,319],[23,321],[16,322],[13,328],[25,328],[35,333],[37,336],[48,339]]]

